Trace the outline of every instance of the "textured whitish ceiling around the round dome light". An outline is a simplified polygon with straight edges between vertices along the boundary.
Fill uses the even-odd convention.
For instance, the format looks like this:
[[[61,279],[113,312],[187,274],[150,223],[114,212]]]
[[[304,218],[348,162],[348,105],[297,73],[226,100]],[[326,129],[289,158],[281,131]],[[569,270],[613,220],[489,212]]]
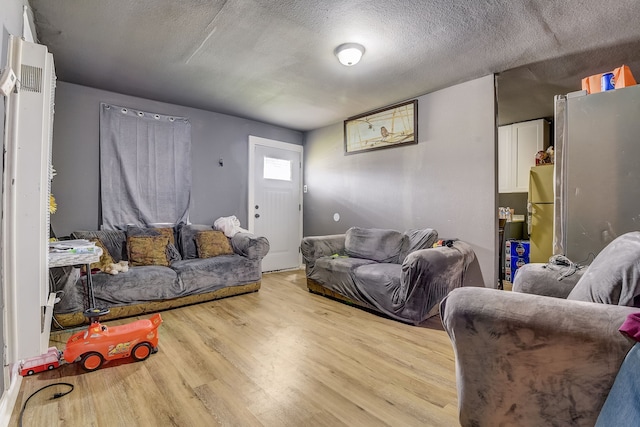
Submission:
[[[29,2],[62,81],[303,131],[506,70],[501,123],[623,63],[640,77],[637,0]]]

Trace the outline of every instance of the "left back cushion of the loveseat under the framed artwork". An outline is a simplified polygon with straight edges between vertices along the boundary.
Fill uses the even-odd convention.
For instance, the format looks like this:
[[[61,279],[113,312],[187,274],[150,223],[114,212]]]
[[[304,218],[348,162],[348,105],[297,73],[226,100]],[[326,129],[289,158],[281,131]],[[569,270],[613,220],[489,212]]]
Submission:
[[[404,234],[395,230],[351,227],[345,235],[344,247],[353,258],[397,263]]]

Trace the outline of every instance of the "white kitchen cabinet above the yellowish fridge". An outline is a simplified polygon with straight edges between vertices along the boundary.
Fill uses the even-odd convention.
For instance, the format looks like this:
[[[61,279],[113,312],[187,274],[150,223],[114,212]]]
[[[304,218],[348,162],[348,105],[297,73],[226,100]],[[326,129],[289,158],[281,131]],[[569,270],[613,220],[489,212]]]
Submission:
[[[536,153],[549,146],[549,122],[544,119],[498,127],[498,192],[529,191],[529,171]]]

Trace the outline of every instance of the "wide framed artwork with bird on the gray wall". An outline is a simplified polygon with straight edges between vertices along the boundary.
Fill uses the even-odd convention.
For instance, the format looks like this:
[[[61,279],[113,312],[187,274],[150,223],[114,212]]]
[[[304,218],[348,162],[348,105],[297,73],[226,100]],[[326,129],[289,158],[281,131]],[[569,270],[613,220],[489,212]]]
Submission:
[[[344,151],[354,154],[418,143],[418,100],[384,107],[344,121]]]

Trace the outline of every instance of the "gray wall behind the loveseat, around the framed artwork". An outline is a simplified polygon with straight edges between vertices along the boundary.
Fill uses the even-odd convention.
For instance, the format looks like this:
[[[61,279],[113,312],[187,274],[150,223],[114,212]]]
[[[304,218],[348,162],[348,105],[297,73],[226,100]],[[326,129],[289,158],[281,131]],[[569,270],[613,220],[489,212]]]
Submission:
[[[304,235],[435,228],[470,243],[485,285],[495,287],[496,176],[489,75],[419,97],[417,145],[345,156],[342,123],[308,132]]]

